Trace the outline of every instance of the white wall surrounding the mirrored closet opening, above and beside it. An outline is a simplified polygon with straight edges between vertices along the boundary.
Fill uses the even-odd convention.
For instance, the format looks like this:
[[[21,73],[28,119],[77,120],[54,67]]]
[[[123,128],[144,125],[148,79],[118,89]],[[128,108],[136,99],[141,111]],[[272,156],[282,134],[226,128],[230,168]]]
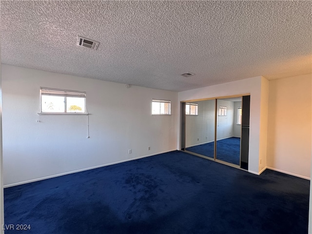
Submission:
[[[226,97],[241,94],[251,95],[248,170],[256,174],[259,173],[259,148],[264,140],[263,136],[267,134],[267,129],[260,129],[260,122],[265,119],[265,114],[261,115],[261,98],[265,98],[264,96],[266,94],[265,92],[261,93],[261,89],[266,89],[265,84],[267,83],[267,80],[263,77],[254,77],[178,93],[178,101]],[[180,106],[178,106],[178,111],[180,111]],[[177,124],[177,137],[179,139],[177,142],[177,148],[180,149],[180,120]],[[264,155],[261,155],[261,157],[263,156]]]

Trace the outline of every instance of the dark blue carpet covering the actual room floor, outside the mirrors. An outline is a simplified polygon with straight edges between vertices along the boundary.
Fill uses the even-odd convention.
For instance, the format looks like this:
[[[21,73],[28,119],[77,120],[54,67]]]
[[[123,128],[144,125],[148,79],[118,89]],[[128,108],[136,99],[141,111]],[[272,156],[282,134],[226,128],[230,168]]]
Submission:
[[[4,189],[6,234],[306,234],[309,180],[174,151]]]

